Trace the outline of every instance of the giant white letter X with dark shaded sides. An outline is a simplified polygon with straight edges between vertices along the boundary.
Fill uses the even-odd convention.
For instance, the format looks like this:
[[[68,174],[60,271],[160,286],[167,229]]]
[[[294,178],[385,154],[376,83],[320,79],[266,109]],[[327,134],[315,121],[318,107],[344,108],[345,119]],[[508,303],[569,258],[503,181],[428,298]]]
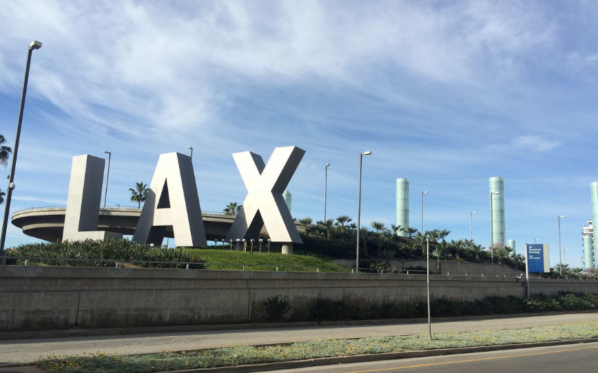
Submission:
[[[298,147],[276,148],[267,165],[261,156],[250,151],[233,154],[247,197],[227,240],[256,238],[265,226],[273,242],[302,243],[282,192],[304,154],[305,150]]]

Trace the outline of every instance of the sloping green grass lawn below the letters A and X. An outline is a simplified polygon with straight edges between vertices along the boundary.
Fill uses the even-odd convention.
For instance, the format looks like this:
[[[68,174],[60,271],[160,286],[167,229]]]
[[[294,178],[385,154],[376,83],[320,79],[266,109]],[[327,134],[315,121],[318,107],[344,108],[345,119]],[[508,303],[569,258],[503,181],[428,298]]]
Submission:
[[[254,249],[256,249],[255,246]],[[242,270],[245,265],[245,270],[276,270],[278,267],[278,270],[285,271],[316,272],[319,268],[320,272],[351,272],[351,268],[308,255],[282,255],[280,253],[256,253],[256,251],[244,253],[243,251],[210,248],[189,248],[185,251],[194,257],[203,257],[206,262],[205,269]]]

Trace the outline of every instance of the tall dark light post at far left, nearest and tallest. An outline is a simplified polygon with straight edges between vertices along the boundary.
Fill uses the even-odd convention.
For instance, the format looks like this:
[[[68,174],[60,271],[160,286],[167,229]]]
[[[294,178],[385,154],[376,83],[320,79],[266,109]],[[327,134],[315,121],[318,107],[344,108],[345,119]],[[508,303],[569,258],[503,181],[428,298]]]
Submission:
[[[41,48],[41,41],[34,40],[29,45],[27,53],[27,65],[25,67],[25,78],[23,79],[23,93],[21,94],[21,107],[19,109],[19,120],[17,121],[17,136],[14,136],[14,148],[12,148],[12,165],[8,176],[8,190],[6,191],[6,205],[4,206],[4,219],[2,220],[2,234],[0,235],[0,264],[6,263],[4,256],[4,244],[6,242],[6,228],[8,226],[8,214],[10,213],[10,199],[14,189],[14,169],[17,167],[17,153],[19,151],[19,139],[21,138],[21,123],[23,122],[23,109],[25,109],[25,96],[27,95],[27,83],[29,81],[29,67],[31,65],[31,54],[33,50]]]

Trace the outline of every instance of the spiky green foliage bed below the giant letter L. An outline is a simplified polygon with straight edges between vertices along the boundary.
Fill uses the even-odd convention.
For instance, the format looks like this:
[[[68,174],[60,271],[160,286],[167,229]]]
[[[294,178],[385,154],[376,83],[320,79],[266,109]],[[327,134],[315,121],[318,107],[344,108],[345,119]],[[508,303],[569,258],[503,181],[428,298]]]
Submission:
[[[87,259],[67,261],[60,259],[39,260],[31,264],[48,266],[92,266],[114,267],[116,262],[189,262],[189,268],[203,268],[203,258],[195,257],[182,250],[149,246],[131,242],[128,239],[106,239],[75,242],[51,242],[42,244],[22,244],[7,251],[9,264],[17,264],[17,259],[10,257],[44,257],[60,259]],[[106,260],[103,262],[101,260]],[[185,268],[185,264],[170,263],[134,263],[135,266],[148,268]]]

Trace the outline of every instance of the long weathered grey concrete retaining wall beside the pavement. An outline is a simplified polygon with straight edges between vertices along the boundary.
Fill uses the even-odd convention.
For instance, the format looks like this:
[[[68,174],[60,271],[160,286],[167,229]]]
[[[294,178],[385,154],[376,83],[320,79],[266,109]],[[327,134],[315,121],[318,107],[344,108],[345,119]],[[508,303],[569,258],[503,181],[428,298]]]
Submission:
[[[437,275],[431,297],[524,295],[525,279]],[[598,293],[598,281],[533,279],[533,292]],[[365,273],[0,267],[0,331],[265,321],[264,302],[288,297],[309,315],[318,297],[424,301],[426,277]]]

